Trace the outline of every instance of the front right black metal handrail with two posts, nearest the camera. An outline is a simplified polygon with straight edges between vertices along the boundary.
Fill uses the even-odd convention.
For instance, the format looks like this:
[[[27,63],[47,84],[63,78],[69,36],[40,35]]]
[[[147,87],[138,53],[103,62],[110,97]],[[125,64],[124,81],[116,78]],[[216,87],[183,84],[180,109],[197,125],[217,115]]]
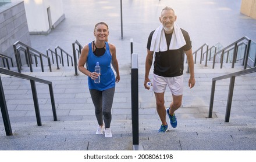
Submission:
[[[250,69],[245,69],[245,70],[239,71],[239,72],[230,73],[230,74],[223,75],[223,76],[218,76],[218,77],[212,79],[211,99],[210,99],[210,104],[209,104],[209,115],[208,115],[209,118],[212,117],[212,109],[214,106],[214,93],[215,93],[216,81],[230,78],[229,95],[227,97],[227,107],[226,107],[226,116],[225,116],[225,122],[229,122],[230,110],[231,110],[231,104],[232,104],[232,98],[233,98],[233,91],[234,91],[234,80],[235,80],[236,76],[246,75],[248,73],[253,73],[253,72],[256,72],[256,67],[250,68]]]

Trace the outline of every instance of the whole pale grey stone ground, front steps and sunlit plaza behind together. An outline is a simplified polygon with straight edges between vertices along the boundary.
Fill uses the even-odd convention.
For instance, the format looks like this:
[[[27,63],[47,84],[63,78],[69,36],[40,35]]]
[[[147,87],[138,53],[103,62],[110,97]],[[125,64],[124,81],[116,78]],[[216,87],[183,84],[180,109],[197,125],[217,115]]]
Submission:
[[[227,46],[248,36],[256,40],[256,20],[239,13],[235,1],[123,1],[123,39],[120,30],[120,1],[63,1],[66,19],[48,35],[31,35],[31,45],[39,51],[57,45],[72,53],[72,43],[82,45],[93,41],[94,24],[109,25],[109,42],[116,45],[121,80],[116,84],[113,102],[112,139],[94,135],[97,124],[93,104],[87,89],[87,78],[73,67],[61,67],[54,72],[24,72],[54,83],[59,121],[52,121],[47,86],[37,84],[40,111],[44,126],[35,126],[30,84],[21,79],[3,77],[6,101],[13,126],[13,137],[6,137],[2,121],[2,150],[132,150],[130,97],[130,39],[138,54],[140,145],[145,150],[255,150],[256,85],[255,75],[236,79],[230,123],[224,123],[229,80],[217,83],[214,118],[208,119],[211,79],[239,71],[242,68],[215,68],[195,65],[196,86],[187,87],[189,74],[184,73],[182,108],[176,112],[179,126],[166,134],[157,134],[160,121],[155,110],[155,98],[145,90],[144,62],[147,37],[158,27],[159,13],[164,6],[173,6],[180,27],[189,31],[193,50],[204,43],[221,42]],[[228,64],[225,66],[229,66]],[[185,65],[186,69],[186,65]],[[152,75],[152,70],[151,70]],[[2,75],[1,75],[2,76]],[[172,99],[166,92],[166,105]],[[0,119],[2,120],[2,119]],[[120,127],[121,126],[121,127]],[[166,138],[170,138],[167,142]],[[101,143],[94,143],[98,139]],[[20,145],[17,145],[17,142]],[[122,142],[122,145],[120,145]]]

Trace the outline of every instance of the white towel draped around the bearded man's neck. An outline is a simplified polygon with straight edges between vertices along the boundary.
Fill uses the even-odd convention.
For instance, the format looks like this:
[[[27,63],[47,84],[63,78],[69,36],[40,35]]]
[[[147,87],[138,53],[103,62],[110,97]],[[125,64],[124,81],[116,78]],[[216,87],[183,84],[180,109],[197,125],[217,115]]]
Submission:
[[[182,30],[180,30],[179,25],[175,23],[173,28],[174,30],[172,33],[172,39],[170,40],[169,50],[180,49],[181,47],[186,45],[186,41],[182,34]],[[165,31],[163,30],[163,26],[161,24],[152,35],[150,51],[166,51],[168,50],[167,48],[168,47],[165,38]]]

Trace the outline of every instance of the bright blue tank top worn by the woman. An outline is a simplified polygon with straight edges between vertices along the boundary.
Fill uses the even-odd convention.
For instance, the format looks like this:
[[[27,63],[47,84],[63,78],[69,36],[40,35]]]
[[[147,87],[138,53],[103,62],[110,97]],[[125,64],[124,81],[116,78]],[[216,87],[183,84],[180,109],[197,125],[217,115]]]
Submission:
[[[98,57],[93,53],[93,49],[91,47],[91,43],[89,43],[89,53],[87,57],[87,70],[90,72],[94,72],[94,68],[96,66],[96,62],[99,62],[99,66],[101,67],[101,82],[94,83],[94,80],[88,77],[88,86],[89,89],[95,89],[99,91],[104,91],[106,89],[110,89],[115,87],[115,74],[111,68],[112,55],[109,50],[108,42],[105,42],[106,51],[105,53]]]

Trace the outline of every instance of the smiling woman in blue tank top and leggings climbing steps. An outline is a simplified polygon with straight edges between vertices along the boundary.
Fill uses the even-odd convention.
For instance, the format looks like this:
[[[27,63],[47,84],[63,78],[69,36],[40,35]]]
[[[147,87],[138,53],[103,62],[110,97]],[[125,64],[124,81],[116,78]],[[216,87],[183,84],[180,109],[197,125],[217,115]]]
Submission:
[[[116,59],[115,45],[108,43],[108,25],[104,22],[97,23],[94,28],[95,41],[85,45],[81,51],[78,62],[79,71],[88,76],[88,86],[95,107],[95,116],[98,121],[96,134],[103,134],[105,137],[112,137],[111,108],[115,93],[115,83],[120,80],[118,60]],[[94,72],[96,62],[99,62],[101,73]],[[84,68],[84,64],[87,64]],[[116,72],[112,71],[111,64]],[[94,83],[100,76],[101,81]],[[104,128],[104,123],[105,128]]]

